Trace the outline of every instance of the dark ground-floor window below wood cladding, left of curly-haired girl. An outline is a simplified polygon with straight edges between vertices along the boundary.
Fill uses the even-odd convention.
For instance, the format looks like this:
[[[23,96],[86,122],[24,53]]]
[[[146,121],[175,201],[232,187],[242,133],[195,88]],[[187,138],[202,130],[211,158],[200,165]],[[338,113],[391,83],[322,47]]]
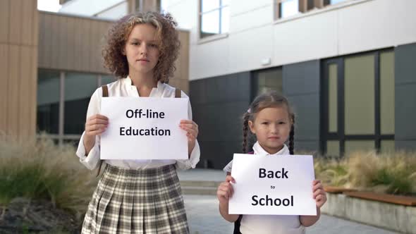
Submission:
[[[115,80],[112,75],[39,69],[37,133],[45,132],[59,143],[79,140],[92,93]]]

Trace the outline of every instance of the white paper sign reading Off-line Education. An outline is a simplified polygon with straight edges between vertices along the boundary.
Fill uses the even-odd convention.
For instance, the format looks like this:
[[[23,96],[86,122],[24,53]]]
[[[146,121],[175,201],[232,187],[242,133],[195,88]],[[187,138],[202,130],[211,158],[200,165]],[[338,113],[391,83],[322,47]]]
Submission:
[[[101,136],[101,159],[188,159],[188,139],[179,128],[188,119],[188,99],[103,97],[109,126]]]

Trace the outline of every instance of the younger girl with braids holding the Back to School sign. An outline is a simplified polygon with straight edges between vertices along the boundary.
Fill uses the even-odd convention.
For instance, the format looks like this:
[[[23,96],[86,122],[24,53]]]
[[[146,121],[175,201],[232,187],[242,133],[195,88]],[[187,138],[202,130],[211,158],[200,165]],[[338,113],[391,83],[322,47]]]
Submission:
[[[293,154],[295,135],[295,114],[290,109],[288,100],[277,94],[267,92],[259,95],[243,116],[243,152],[247,152],[248,131],[255,135],[257,142],[252,152],[247,154],[288,155]],[[289,147],[285,142],[289,140]],[[312,226],[320,216],[320,208],[326,202],[326,193],[319,180],[314,180],[311,189],[317,204],[316,216],[286,215],[238,215],[228,214],[228,199],[233,196],[234,178],[231,177],[231,161],[225,168],[225,182],[218,187],[216,195],[219,199],[219,211],[224,219],[235,222],[234,233],[305,233],[305,226]]]

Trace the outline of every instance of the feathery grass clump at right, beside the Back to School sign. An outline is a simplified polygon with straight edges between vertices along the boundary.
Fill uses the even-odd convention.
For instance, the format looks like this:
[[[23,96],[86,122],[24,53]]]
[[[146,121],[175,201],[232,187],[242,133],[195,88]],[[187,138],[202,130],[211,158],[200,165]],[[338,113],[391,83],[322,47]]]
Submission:
[[[416,195],[415,153],[353,152],[341,160],[315,159],[314,167],[326,185]]]

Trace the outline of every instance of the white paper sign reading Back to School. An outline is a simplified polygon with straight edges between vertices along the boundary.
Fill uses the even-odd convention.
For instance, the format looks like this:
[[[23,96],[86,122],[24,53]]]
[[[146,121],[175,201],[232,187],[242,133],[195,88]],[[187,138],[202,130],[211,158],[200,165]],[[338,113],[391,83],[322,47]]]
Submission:
[[[311,155],[234,154],[229,214],[316,215]]]

